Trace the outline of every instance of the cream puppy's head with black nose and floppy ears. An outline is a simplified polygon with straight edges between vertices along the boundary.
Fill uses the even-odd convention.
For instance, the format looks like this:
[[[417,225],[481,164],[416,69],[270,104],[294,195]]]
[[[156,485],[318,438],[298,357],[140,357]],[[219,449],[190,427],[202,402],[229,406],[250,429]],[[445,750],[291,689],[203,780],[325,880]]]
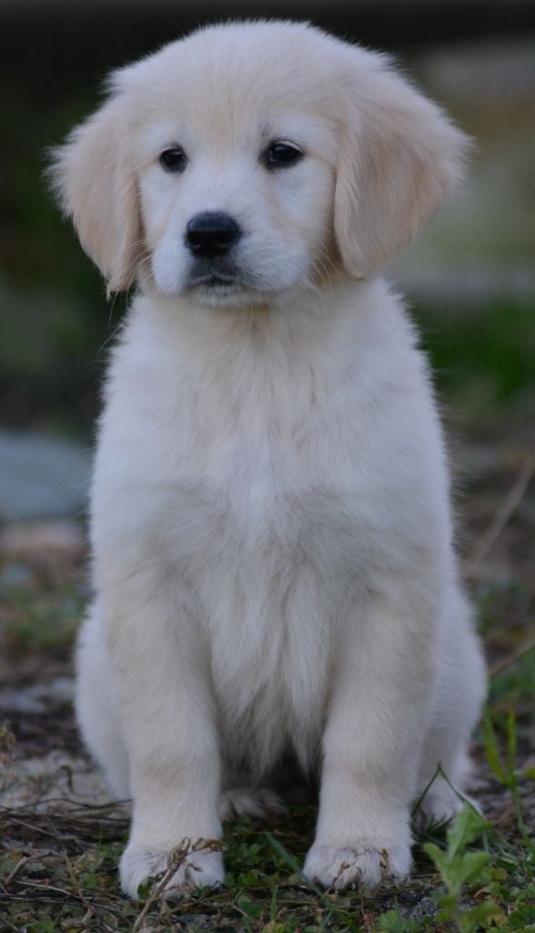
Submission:
[[[109,291],[139,278],[240,305],[373,274],[444,199],[464,148],[385,57],[251,22],[114,73],[52,174]]]

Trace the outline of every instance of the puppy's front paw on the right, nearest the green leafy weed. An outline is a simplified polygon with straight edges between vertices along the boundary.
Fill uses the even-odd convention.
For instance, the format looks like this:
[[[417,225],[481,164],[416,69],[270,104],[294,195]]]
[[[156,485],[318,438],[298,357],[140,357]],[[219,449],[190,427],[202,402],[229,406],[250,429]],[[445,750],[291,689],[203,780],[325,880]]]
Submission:
[[[338,848],[314,842],[305,862],[305,874],[323,887],[341,891],[347,887],[377,887],[385,876],[404,878],[411,869],[410,846],[391,845],[379,850],[372,845]]]

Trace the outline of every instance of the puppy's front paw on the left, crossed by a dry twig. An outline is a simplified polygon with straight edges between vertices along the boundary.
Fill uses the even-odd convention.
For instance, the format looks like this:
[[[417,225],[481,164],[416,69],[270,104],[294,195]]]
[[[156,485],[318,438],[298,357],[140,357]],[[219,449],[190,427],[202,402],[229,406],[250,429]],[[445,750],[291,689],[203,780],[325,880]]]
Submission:
[[[171,852],[129,844],[120,862],[122,890],[137,898],[140,884],[149,878],[154,879],[153,890],[161,887],[159,897],[182,898],[196,887],[219,887],[224,883],[223,856],[213,851],[210,842],[205,848],[199,845],[193,849],[181,844]]]

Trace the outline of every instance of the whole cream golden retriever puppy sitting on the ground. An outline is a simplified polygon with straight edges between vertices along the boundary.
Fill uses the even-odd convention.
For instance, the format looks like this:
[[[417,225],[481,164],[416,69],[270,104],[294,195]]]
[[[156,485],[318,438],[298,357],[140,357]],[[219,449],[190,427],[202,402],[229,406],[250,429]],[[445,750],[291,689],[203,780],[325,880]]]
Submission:
[[[115,72],[56,153],[108,291],[135,285],[77,652],[82,732],[133,800],[133,897],[269,803],[288,752],[320,773],[326,887],[404,876],[426,787],[430,818],[460,807],[484,667],[426,362],[377,272],[465,148],[385,56],[254,21]],[[201,849],[165,893],[223,880]]]

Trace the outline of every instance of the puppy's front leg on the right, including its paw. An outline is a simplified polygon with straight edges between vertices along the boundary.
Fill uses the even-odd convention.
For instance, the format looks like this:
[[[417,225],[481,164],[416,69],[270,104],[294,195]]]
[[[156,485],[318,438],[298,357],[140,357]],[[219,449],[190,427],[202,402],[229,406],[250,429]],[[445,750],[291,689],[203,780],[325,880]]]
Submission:
[[[411,867],[409,807],[430,716],[432,614],[377,600],[340,639],[323,737],[320,813],[305,863],[325,887]]]

